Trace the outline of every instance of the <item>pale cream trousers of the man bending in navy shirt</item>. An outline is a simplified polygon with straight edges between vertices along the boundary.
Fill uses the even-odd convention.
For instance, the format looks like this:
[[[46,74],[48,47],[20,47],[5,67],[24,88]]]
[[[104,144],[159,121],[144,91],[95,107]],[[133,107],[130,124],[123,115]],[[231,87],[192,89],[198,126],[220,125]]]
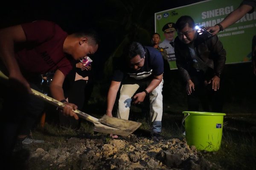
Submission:
[[[120,119],[129,118],[131,108],[131,97],[140,87],[139,84],[124,84],[120,90],[120,97],[118,101],[117,117]],[[149,93],[150,101],[150,119],[151,119],[151,132],[161,132],[161,122],[163,116],[163,80],[160,84]]]

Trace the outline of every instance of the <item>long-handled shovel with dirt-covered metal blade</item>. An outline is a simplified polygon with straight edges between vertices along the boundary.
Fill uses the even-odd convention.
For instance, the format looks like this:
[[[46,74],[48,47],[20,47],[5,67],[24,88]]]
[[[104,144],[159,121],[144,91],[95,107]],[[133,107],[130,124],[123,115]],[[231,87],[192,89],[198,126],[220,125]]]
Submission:
[[[6,75],[0,71],[0,77],[3,79],[8,79]],[[65,104],[62,102],[59,102],[56,99],[53,99],[52,97],[46,96],[39,91],[36,91],[32,89],[32,94],[40,99],[43,99],[46,102],[49,102],[52,105],[57,106],[58,108],[64,108]],[[133,133],[137,128],[140,127],[141,123],[134,122],[130,120],[125,119],[118,119],[116,117],[110,117],[107,115],[102,116],[102,118],[97,119],[93,116],[90,116],[82,111],[75,110],[74,111],[80,118],[86,119],[89,122],[92,122],[94,124],[93,130],[96,132],[101,133],[111,133],[121,136],[128,136],[131,133]]]

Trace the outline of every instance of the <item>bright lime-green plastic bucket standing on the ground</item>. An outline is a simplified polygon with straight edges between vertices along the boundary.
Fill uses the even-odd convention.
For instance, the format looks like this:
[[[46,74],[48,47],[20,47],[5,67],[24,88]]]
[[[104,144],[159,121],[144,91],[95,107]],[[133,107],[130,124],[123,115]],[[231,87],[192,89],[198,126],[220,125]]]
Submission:
[[[183,111],[186,141],[197,150],[217,151],[221,146],[225,113]]]

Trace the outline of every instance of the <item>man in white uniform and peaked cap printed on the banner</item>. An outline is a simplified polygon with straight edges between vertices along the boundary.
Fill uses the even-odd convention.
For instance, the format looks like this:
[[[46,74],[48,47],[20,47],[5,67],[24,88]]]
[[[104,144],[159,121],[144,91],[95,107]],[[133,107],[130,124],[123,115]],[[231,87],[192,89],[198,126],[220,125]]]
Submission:
[[[168,61],[175,61],[174,52],[174,39],[175,39],[175,23],[167,23],[163,26],[162,31],[164,32],[165,40],[159,44],[160,48],[164,48],[167,51]]]

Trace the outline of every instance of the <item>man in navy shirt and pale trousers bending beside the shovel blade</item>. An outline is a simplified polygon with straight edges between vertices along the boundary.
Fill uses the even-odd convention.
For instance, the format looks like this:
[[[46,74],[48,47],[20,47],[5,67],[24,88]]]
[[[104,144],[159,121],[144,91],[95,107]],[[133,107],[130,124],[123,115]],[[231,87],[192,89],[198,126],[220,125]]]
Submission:
[[[121,63],[113,74],[108,91],[108,105],[106,115],[112,116],[116,95],[122,83],[117,108],[117,117],[128,119],[131,102],[140,104],[149,95],[151,136],[155,140],[162,139],[163,115],[163,57],[153,47],[142,46],[139,42],[133,42],[125,48]],[[140,87],[145,89],[137,91]],[[111,134],[112,138],[118,136]]]

